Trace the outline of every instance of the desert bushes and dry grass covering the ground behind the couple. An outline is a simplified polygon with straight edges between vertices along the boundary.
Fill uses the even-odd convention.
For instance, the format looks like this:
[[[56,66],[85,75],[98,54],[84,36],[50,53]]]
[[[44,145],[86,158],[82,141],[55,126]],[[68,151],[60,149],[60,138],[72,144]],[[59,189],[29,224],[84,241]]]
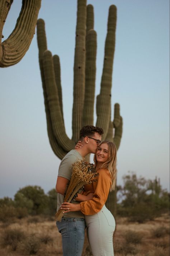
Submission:
[[[129,173],[117,186],[115,256],[169,256],[169,193],[160,180]],[[54,216],[55,189],[19,189],[14,199],[0,199],[0,255],[62,256],[61,234]],[[92,256],[85,238],[82,256]]]

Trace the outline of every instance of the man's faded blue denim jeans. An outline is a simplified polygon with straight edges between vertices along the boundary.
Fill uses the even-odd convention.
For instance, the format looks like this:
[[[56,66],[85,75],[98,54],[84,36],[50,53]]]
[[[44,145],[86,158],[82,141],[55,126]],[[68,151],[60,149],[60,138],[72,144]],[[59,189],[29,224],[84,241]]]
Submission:
[[[62,218],[56,225],[62,235],[63,256],[81,256],[86,228],[84,218]]]

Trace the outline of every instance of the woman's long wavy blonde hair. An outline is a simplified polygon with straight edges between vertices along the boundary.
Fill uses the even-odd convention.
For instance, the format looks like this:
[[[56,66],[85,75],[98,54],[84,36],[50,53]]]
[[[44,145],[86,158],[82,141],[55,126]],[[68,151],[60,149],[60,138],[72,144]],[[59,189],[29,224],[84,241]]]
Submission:
[[[113,142],[110,141],[102,141],[99,146],[101,146],[101,144],[107,144],[108,145],[108,153],[109,153],[109,159],[107,160],[107,162],[105,162],[104,164],[102,164],[101,168],[106,168],[109,170],[110,176],[111,176],[111,180],[112,180],[112,185],[110,186],[110,191],[115,189],[115,184],[116,184],[116,178],[117,178],[117,149],[116,146]],[[98,151],[97,149],[97,151]],[[97,152],[96,151],[96,152]],[[94,155],[94,167],[96,167],[97,164],[97,160],[96,160],[96,154]]]

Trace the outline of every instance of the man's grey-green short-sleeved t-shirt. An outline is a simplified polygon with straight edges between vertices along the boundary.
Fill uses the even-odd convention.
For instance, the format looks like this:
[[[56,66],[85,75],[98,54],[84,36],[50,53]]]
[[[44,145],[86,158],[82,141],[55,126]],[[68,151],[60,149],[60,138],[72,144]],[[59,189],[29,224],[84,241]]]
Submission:
[[[82,156],[75,149],[71,150],[65,157],[61,160],[60,166],[58,168],[58,176],[71,180],[72,174],[72,164],[76,162],[77,159],[82,159]],[[63,203],[63,195],[57,195],[57,211],[60,209],[61,204]],[[79,203],[79,202],[75,202]],[[76,212],[67,212],[63,215],[64,217],[78,217],[84,218],[84,215],[80,211]]]

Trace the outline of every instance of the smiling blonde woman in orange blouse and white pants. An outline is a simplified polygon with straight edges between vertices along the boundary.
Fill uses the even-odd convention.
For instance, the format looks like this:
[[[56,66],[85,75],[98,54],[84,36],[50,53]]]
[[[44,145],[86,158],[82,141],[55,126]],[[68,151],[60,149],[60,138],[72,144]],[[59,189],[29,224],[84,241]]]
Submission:
[[[116,182],[117,151],[113,142],[103,141],[94,156],[97,182],[85,186],[84,195],[94,192],[93,198],[79,204],[62,203],[63,212],[81,211],[85,215],[87,235],[93,256],[113,256],[113,233],[115,220],[105,207],[109,190]]]

